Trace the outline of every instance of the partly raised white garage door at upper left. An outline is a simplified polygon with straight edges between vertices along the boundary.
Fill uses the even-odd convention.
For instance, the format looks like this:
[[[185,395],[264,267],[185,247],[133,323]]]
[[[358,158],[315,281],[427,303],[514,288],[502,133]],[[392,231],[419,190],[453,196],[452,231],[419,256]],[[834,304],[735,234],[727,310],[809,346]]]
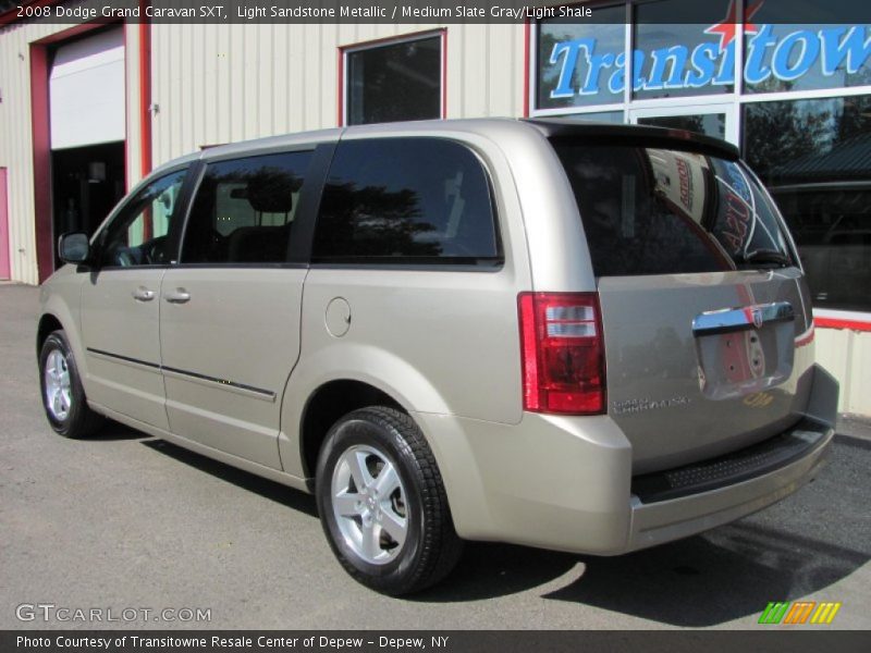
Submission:
[[[58,48],[49,91],[51,149],[124,140],[122,29]]]

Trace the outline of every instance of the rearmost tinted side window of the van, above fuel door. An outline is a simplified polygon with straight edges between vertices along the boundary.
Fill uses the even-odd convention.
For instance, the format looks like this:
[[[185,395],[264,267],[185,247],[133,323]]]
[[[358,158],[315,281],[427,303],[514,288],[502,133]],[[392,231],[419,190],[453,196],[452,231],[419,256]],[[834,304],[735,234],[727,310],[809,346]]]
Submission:
[[[439,138],[340,143],[323,192],[312,260],[500,262],[481,162],[463,145]]]

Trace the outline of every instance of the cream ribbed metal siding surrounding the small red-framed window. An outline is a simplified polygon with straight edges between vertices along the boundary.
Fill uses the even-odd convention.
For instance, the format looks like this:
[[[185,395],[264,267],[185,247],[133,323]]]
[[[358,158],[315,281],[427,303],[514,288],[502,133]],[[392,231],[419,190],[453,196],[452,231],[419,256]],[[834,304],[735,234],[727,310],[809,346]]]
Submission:
[[[154,25],[155,165],[217,145],[333,127],[343,46],[447,28],[447,116],[523,111],[522,25]]]

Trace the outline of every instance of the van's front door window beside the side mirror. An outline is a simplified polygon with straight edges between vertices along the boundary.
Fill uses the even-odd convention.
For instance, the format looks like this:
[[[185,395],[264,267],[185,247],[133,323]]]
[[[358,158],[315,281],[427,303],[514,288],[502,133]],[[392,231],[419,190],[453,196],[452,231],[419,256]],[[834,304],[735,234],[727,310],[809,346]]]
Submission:
[[[106,226],[100,266],[162,266],[170,261],[167,234],[186,170],[164,175],[139,190]]]

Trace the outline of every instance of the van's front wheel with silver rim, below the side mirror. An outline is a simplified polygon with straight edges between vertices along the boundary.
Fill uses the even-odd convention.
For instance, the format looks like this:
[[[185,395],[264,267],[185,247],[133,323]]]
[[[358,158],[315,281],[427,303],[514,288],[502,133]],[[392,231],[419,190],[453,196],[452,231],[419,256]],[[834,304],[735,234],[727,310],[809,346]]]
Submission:
[[[87,438],[103,418],[87,404],[82,379],[63,331],[53,331],[39,352],[39,390],[48,423],[64,438]]]

